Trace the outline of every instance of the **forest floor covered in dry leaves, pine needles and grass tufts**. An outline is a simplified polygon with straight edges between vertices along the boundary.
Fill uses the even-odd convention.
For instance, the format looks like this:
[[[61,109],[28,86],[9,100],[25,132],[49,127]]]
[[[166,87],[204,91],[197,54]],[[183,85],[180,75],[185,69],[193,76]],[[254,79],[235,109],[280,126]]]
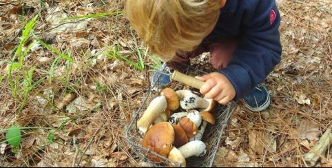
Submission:
[[[24,2],[0,1],[0,167],[141,166],[125,130],[160,61],[130,28],[123,1]],[[278,7],[283,52],[265,81],[271,105],[234,106],[214,166],[307,167],[304,154],[332,126],[332,1]],[[331,167],[331,157],[316,166]]]

